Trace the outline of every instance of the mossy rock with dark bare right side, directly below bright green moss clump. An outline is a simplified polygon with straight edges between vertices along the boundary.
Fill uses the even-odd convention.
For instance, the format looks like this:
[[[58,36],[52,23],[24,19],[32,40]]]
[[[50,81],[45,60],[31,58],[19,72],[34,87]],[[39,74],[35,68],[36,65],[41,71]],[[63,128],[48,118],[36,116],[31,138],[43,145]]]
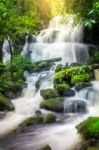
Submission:
[[[56,90],[60,94],[60,96],[63,96],[63,97],[65,96],[69,97],[69,96],[75,95],[75,91],[72,90],[68,84],[58,84],[56,86]]]

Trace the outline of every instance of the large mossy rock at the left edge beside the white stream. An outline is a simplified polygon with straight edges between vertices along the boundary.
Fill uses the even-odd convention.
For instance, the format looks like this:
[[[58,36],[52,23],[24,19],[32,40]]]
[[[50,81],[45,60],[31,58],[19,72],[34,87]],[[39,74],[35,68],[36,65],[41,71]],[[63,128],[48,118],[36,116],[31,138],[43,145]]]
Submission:
[[[0,111],[14,110],[14,106],[9,98],[0,94]]]

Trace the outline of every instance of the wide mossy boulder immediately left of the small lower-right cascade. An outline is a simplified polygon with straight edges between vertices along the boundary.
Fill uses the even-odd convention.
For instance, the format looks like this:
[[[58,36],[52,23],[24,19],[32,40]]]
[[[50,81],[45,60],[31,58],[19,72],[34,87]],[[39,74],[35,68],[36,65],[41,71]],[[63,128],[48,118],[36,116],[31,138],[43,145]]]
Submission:
[[[40,107],[54,112],[64,112],[64,100],[60,97],[47,99],[40,104]]]

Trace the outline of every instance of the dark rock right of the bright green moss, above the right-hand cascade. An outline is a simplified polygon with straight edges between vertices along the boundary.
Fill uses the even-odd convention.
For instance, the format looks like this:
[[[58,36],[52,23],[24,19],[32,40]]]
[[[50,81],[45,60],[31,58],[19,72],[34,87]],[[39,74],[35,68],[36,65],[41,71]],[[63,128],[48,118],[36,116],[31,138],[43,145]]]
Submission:
[[[83,88],[90,87],[92,84],[90,82],[80,82],[75,85],[76,91],[80,91]]]

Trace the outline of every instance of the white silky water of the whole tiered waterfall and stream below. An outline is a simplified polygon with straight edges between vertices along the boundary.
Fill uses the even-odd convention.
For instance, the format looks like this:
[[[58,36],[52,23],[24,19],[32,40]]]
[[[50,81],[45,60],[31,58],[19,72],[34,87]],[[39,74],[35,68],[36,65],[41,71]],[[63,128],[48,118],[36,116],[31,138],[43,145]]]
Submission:
[[[22,55],[30,54],[33,61],[50,58],[62,58],[63,64],[78,62],[84,64],[89,58],[89,45],[82,43],[83,27],[73,26],[71,16],[62,23],[62,17],[54,18],[48,27],[36,37],[36,42],[26,43]],[[6,41],[5,41],[6,42]],[[9,52],[5,51],[7,42],[4,44],[4,61],[10,59]],[[12,100],[15,111],[9,112],[3,120],[0,120],[0,136],[14,130],[22,120],[33,116],[40,109],[42,101],[40,92],[35,89],[35,82],[42,77],[40,89],[53,87],[54,70],[41,73],[25,73],[27,88],[22,96]],[[71,150],[81,141],[75,126],[92,115],[99,115],[99,83],[93,82],[92,88],[86,88],[64,102],[64,114],[69,116],[63,124],[39,127],[31,132],[21,133],[15,138],[7,139],[2,146],[5,150],[36,150],[42,145],[49,144],[53,150]],[[72,109],[73,108],[73,109]],[[81,108],[81,109],[80,109]],[[73,111],[74,110],[74,111]],[[86,110],[86,113],[83,111]],[[46,113],[45,110],[41,110]],[[63,117],[65,116],[63,114]],[[68,114],[68,115],[67,115]]]

